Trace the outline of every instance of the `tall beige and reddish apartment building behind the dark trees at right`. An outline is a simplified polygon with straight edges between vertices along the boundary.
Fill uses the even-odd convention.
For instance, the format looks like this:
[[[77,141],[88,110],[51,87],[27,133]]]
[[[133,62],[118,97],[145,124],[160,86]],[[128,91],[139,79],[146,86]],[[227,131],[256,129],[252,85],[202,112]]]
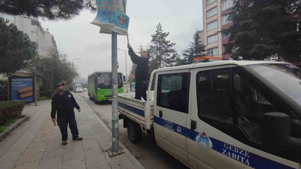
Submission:
[[[229,36],[222,34],[232,24],[228,13],[234,6],[234,0],[203,0],[203,41],[209,56],[229,58],[223,55],[224,46],[229,43]]]

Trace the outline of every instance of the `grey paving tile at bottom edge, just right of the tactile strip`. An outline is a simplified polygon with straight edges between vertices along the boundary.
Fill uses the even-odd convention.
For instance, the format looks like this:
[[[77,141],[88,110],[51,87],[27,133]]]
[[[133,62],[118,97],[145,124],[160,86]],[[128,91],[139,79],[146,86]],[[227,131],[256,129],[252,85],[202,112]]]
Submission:
[[[63,166],[63,156],[47,158],[40,161],[39,169],[61,169]]]

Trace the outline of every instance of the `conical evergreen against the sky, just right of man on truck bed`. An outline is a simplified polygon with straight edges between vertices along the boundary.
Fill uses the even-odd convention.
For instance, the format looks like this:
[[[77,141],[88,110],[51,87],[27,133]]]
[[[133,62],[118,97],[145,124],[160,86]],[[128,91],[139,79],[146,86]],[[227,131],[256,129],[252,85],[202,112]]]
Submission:
[[[156,33],[151,35],[154,45],[151,45],[147,50],[151,55],[151,61],[149,63],[149,73],[154,69],[162,67],[171,67],[175,65],[175,60],[178,57],[178,53],[172,48],[175,43],[171,43],[167,40],[169,32],[163,32],[161,23],[157,25]]]

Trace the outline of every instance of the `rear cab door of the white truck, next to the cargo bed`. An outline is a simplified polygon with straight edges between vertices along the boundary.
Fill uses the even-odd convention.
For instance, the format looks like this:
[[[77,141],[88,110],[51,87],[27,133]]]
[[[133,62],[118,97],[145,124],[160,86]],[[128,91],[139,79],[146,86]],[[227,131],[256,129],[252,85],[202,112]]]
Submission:
[[[154,130],[159,147],[189,165],[186,148],[189,69],[157,72]]]

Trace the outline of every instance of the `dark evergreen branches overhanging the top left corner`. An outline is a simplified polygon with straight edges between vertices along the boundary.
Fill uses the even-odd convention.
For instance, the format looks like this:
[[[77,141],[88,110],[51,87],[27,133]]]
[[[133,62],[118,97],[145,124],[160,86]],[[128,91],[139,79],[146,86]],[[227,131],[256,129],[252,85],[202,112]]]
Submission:
[[[0,11],[12,15],[69,20],[84,9],[96,11],[97,0],[1,0]]]

